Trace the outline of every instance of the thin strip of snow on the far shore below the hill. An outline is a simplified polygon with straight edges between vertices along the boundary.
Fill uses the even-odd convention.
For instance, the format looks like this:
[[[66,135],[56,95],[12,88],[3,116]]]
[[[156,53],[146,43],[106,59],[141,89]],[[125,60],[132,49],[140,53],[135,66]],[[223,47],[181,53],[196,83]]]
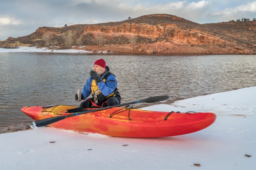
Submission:
[[[0,53],[20,53],[20,52],[34,52],[34,53],[93,53],[92,51],[86,51],[82,49],[66,49],[66,50],[58,50],[56,49],[48,49],[46,47],[18,47],[18,48],[0,48]],[[78,47],[79,48],[79,47]],[[82,47],[80,47],[82,48]],[[95,53],[95,52],[94,52]],[[106,53],[106,51],[98,51],[97,53]]]

